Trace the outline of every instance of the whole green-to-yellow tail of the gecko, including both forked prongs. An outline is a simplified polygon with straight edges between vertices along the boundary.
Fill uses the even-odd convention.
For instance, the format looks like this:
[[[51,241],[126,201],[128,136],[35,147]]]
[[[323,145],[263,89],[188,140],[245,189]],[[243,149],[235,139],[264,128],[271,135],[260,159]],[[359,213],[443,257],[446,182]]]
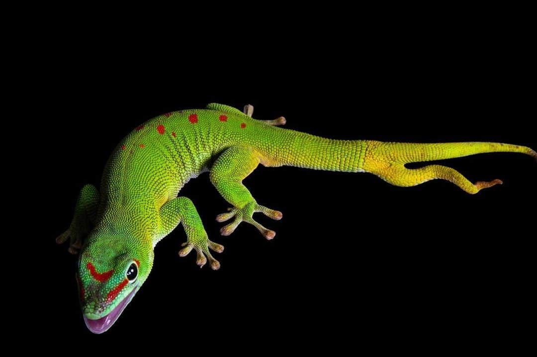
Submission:
[[[278,129],[282,130],[282,129]],[[451,167],[428,165],[408,169],[405,164],[462,157],[485,152],[519,152],[537,159],[534,150],[513,144],[489,142],[396,143],[371,140],[331,140],[293,130],[279,131],[281,142],[266,143],[270,166],[291,165],[308,169],[371,172],[396,186],[416,186],[433,179],[451,181],[468,193],[501,184],[500,180],[470,183]],[[282,135],[281,135],[282,134]]]

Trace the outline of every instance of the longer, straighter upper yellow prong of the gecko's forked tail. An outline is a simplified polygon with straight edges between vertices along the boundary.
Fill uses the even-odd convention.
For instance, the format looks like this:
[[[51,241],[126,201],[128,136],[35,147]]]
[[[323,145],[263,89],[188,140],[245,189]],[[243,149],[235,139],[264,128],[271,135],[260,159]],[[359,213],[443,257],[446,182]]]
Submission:
[[[532,156],[537,161],[537,152],[531,148],[504,143],[456,142],[456,143],[381,143],[379,149],[386,152],[395,162],[412,163],[443,160],[487,152],[518,152]]]

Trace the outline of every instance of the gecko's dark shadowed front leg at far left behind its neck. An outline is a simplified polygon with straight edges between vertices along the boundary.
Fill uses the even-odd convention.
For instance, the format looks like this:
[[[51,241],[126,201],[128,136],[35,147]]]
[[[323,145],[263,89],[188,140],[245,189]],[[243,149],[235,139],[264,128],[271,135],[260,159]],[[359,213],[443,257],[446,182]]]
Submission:
[[[95,224],[98,202],[99,192],[95,186],[85,185],[82,187],[78,194],[71,224],[65,232],[56,238],[56,243],[62,244],[69,239],[67,251],[71,254],[78,254],[78,250],[82,247],[83,238],[88,235]]]

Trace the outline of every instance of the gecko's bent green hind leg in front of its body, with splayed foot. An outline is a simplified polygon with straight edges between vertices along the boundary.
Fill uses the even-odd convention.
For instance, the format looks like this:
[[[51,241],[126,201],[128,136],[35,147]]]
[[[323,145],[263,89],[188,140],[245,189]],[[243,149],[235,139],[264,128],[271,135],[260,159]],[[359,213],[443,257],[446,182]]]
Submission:
[[[220,233],[229,236],[241,222],[252,224],[266,238],[272,239],[276,233],[263,227],[253,219],[256,212],[263,213],[273,220],[280,220],[281,212],[259,205],[242,180],[247,177],[260,162],[259,156],[253,149],[235,146],[226,149],[214,162],[211,168],[211,182],[222,197],[233,205],[228,213],[216,216],[216,221],[234,220],[222,227]]]

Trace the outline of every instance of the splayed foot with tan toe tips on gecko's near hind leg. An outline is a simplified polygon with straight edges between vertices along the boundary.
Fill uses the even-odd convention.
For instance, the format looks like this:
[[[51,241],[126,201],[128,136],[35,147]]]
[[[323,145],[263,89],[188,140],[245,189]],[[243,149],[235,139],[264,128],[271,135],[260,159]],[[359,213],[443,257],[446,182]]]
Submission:
[[[263,225],[253,220],[252,216],[256,212],[261,212],[265,216],[270,217],[273,220],[281,220],[282,217],[281,212],[267,208],[265,206],[258,205],[255,202],[247,203],[242,208],[228,208],[228,211],[228,213],[222,213],[216,216],[217,222],[225,222],[235,217],[233,222],[224,225],[224,227],[220,229],[220,234],[222,236],[229,236],[231,233],[233,233],[233,231],[241,222],[246,222],[256,227],[266,239],[272,239],[276,235],[276,232],[270,229],[266,229],[265,227],[263,227]]]

